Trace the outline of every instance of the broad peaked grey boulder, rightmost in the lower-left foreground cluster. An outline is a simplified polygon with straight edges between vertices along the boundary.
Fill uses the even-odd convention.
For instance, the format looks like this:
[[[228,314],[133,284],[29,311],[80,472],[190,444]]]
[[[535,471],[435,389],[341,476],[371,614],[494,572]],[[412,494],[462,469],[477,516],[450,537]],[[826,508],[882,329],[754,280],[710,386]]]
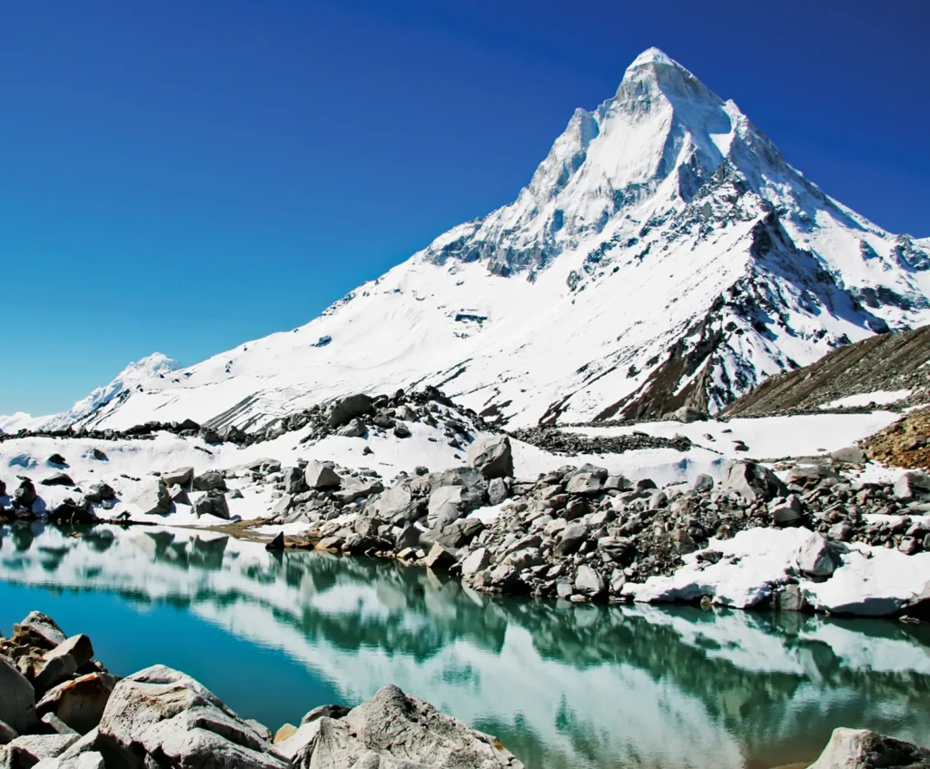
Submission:
[[[321,718],[295,769],[524,769],[492,736],[476,732],[396,686],[339,720]]]

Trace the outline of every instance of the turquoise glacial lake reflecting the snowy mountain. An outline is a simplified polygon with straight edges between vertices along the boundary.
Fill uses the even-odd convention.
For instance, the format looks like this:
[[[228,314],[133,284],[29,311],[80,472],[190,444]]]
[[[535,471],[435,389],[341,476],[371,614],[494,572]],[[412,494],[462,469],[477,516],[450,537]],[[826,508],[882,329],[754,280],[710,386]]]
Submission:
[[[2,525],[0,631],[33,609],[114,673],[184,670],[272,730],[397,683],[530,769],[774,767],[836,726],[930,744],[926,624],[492,598],[193,530]]]

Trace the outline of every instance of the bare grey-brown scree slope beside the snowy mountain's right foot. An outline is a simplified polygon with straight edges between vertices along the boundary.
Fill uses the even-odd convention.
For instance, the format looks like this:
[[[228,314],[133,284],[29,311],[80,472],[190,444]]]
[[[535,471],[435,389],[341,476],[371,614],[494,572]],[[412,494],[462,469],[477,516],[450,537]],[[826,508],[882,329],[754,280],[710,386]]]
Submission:
[[[747,392],[721,417],[820,412],[821,404],[861,392],[911,390],[906,404],[930,401],[930,326],[879,334],[830,352],[817,363],[779,374]]]

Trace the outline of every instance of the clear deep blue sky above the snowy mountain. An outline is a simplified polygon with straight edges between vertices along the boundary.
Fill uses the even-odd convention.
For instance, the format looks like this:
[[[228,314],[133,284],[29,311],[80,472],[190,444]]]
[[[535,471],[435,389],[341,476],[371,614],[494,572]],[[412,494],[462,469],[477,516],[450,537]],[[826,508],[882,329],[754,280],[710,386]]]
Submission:
[[[930,235],[930,3],[7,3],[0,413],[311,320],[512,200],[658,46]]]

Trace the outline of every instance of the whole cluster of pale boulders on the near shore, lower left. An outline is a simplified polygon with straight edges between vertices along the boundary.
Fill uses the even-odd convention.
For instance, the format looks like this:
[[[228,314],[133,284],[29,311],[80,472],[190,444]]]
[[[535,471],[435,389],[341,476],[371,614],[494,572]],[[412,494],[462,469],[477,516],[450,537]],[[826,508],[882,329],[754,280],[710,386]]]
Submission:
[[[5,769],[523,767],[495,737],[391,685],[357,708],[312,709],[272,737],[178,670],[110,675],[86,636],[65,638],[37,612],[0,636],[0,746]]]

